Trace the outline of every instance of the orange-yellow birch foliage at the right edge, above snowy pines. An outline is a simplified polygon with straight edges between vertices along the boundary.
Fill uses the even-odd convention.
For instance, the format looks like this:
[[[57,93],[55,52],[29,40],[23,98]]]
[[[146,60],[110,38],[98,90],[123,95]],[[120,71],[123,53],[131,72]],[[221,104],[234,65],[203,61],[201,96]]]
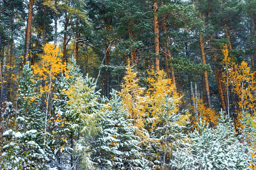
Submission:
[[[233,59],[228,57],[227,45],[222,49],[224,59],[221,62],[225,69],[223,74],[224,84],[226,88],[230,88],[230,92],[238,97],[238,122],[241,120],[242,111],[249,111],[251,114],[256,113],[256,80],[255,72],[251,71],[246,61],[236,64]]]

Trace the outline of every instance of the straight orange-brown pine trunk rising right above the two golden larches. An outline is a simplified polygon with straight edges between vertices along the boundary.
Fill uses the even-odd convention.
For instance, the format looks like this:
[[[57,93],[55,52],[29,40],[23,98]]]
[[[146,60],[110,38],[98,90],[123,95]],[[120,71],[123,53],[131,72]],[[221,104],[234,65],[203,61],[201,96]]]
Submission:
[[[158,55],[159,55],[159,27],[158,27],[158,18],[157,18],[157,10],[158,10],[158,7],[157,7],[157,2],[155,1],[153,3],[153,7],[154,7],[154,19],[153,19],[153,25],[154,25],[154,34],[155,34],[155,70],[156,72],[159,72],[160,70],[160,63],[159,63],[159,58],[158,58]]]

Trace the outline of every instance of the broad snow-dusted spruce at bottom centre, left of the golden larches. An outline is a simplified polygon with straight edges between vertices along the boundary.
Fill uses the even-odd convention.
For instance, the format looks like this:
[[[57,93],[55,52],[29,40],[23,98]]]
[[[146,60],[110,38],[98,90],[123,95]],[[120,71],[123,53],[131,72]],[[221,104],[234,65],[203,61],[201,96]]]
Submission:
[[[131,126],[132,119],[123,110],[120,96],[112,90],[111,100],[101,115],[101,132],[95,142],[93,161],[104,170],[142,170],[139,137],[135,135],[138,127]],[[144,167],[145,169],[146,167]]]

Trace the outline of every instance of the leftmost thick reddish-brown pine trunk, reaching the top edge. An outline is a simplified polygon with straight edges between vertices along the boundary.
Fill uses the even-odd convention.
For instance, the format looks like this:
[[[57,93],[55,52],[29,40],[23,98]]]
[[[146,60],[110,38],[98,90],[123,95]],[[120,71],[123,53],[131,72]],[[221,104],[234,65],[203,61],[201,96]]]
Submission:
[[[25,53],[24,53],[23,65],[25,65],[26,62],[30,60],[29,59],[29,48],[30,48],[30,41],[31,41],[33,3],[34,3],[34,0],[29,0],[28,16],[27,16],[27,28],[26,28],[26,39],[25,39]]]

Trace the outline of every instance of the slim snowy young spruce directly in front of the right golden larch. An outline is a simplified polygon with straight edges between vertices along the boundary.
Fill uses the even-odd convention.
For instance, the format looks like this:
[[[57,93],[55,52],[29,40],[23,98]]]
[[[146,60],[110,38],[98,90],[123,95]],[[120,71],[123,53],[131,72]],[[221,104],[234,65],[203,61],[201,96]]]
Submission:
[[[175,111],[171,97],[165,95],[163,101],[161,106],[163,113],[157,113],[155,129],[151,133],[152,138],[158,139],[158,142],[151,144],[155,151],[152,156],[153,168],[161,170],[172,166],[173,153],[179,144],[187,139],[184,133],[186,119]]]

